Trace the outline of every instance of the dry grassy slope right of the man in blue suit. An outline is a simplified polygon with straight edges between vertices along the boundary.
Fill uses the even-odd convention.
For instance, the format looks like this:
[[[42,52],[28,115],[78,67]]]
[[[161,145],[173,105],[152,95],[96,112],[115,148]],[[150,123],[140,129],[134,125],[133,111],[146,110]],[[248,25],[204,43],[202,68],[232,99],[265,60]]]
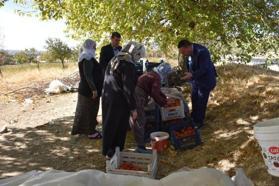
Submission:
[[[246,65],[217,68],[219,79],[210,98],[204,144],[193,150],[169,150],[163,156],[166,175],[181,165],[215,167],[234,174],[243,167],[256,185],[273,185],[253,137],[253,125],[279,116],[279,73]],[[184,95],[189,100],[189,88]]]

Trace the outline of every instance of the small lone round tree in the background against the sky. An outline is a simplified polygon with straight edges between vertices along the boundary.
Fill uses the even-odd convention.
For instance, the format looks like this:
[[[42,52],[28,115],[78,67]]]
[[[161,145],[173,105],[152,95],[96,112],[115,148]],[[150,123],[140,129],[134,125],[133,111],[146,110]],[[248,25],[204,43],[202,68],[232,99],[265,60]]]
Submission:
[[[59,60],[62,64],[62,68],[65,68],[65,60],[71,57],[71,49],[66,43],[60,39],[48,39],[46,41],[47,55],[52,60]]]

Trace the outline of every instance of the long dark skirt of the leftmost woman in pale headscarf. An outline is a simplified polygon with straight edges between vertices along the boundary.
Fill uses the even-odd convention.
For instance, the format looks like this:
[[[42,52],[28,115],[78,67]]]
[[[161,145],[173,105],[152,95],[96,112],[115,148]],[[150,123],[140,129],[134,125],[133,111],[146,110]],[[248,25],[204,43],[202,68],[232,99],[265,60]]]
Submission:
[[[78,94],[72,135],[93,134],[96,130],[100,98],[92,99]]]

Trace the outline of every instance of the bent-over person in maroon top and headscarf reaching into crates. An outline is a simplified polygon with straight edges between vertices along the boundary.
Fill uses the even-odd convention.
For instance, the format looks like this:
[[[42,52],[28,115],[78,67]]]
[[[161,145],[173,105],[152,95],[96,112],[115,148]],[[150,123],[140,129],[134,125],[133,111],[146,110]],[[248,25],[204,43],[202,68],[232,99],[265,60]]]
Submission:
[[[158,67],[154,68],[153,71],[146,72],[138,78],[135,90],[138,118],[135,122],[131,122],[131,128],[137,143],[136,152],[149,152],[145,148],[144,140],[144,129],[146,124],[144,108],[148,104],[149,97],[152,97],[161,107],[167,103],[167,97],[161,91],[161,85],[166,82],[167,76],[171,71],[170,64],[161,63]]]

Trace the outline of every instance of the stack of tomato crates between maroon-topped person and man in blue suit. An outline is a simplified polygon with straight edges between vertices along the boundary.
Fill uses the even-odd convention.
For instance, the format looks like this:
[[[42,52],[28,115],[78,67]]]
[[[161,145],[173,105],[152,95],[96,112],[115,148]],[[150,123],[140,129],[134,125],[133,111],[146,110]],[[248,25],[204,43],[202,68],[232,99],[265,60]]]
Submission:
[[[170,135],[175,149],[189,149],[201,144],[200,133],[189,117],[187,104],[176,88],[162,88],[168,97],[165,107],[159,107],[153,99],[145,108],[145,139],[150,141],[150,134],[165,131]],[[186,108],[186,109],[185,109]]]

